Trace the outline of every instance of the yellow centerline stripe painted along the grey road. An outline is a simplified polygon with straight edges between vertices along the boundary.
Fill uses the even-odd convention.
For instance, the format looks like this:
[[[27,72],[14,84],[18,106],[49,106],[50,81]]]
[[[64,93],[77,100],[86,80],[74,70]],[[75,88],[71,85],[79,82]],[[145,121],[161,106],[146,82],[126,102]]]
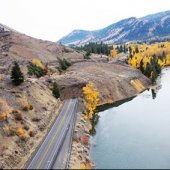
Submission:
[[[68,111],[68,109],[69,109],[70,103],[71,103],[71,102],[69,102],[68,107],[67,107],[67,109],[66,109],[66,111],[65,111],[65,114],[64,114],[64,116],[62,117],[62,120],[59,122],[59,125],[58,125],[58,128],[57,128],[57,130],[56,130],[56,133],[54,134],[52,140],[50,141],[48,147],[46,148],[45,153],[43,154],[43,157],[42,157],[41,161],[38,163],[38,165],[37,165],[37,167],[36,167],[37,169],[40,169],[40,166],[41,166],[42,162],[44,161],[44,159],[45,159],[45,157],[46,157],[49,149],[51,148],[51,145],[54,143],[54,138],[56,138],[56,137],[58,136],[58,132],[59,132],[59,130],[60,130],[60,128],[61,128],[61,125],[63,124],[63,122],[64,122],[64,120],[65,120],[66,113],[67,113],[67,111]]]

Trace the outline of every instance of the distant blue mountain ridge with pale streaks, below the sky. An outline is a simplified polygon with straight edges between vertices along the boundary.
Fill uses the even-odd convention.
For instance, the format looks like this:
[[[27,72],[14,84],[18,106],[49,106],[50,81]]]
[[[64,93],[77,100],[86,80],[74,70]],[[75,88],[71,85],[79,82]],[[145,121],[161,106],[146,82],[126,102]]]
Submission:
[[[142,18],[127,18],[96,31],[74,30],[58,42],[67,46],[80,46],[88,42],[120,44],[165,37],[170,37],[170,11]]]

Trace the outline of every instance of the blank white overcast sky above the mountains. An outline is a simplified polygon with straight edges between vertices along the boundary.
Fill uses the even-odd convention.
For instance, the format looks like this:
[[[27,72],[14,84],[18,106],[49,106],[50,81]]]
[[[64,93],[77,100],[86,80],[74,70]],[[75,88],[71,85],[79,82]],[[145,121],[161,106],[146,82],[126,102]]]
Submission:
[[[0,23],[57,41],[75,29],[101,29],[121,19],[166,10],[170,0],[0,0]]]

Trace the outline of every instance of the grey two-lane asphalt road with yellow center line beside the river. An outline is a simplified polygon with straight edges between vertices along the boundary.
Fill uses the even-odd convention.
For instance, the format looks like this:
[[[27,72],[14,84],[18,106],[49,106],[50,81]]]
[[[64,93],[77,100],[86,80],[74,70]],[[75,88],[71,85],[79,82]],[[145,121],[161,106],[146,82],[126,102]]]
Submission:
[[[65,101],[63,109],[30,161],[27,169],[50,169],[56,164],[56,159],[66,134],[69,128],[73,127],[73,115],[77,111],[77,103],[77,99]]]

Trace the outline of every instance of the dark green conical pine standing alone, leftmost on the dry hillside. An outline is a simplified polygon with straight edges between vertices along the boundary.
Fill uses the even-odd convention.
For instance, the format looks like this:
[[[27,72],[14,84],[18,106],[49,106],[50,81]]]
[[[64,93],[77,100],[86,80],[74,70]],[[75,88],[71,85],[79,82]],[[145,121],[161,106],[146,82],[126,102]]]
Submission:
[[[14,85],[18,86],[24,82],[24,76],[18,63],[15,61],[11,72],[11,80]]]

